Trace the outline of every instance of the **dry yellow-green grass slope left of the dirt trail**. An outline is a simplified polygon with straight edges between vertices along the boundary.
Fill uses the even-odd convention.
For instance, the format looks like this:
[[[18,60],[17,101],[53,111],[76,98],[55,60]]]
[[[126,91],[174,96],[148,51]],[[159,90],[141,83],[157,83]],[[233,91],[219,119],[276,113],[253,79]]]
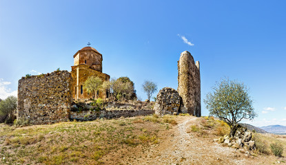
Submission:
[[[159,143],[169,124],[176,124],[172,116],[156,115],[43,126],[0,124],[0,164],[102,164],[108,155],[132,154]]]

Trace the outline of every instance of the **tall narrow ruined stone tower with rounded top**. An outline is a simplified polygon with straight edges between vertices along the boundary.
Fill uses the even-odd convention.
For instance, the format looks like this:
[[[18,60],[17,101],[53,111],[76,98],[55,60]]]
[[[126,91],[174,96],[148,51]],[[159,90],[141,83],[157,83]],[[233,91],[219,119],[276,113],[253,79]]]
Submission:
[[[178,61],[178,94],[182,97],[181,112],[201,116],[200,64],[190,52],[182,52]]]

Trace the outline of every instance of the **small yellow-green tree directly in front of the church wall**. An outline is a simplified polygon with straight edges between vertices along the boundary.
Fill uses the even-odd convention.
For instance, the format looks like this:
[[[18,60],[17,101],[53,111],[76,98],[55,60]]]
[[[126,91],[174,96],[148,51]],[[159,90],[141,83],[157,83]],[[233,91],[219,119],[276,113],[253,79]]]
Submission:
[[[87,80],[85,80],[85,83],[83,84],[83,89],[92,94],[92,98],[94,99],[97,98],[97,91],[101,89],[102,84],[103,81],[101,80],[101,78],[96,76],[90,76]]]

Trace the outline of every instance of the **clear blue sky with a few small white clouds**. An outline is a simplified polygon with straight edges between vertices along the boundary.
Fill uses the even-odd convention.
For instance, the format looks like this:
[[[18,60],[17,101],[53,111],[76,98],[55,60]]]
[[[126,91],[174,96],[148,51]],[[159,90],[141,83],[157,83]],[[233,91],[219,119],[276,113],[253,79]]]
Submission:
[[[254,126],[286,125],[286,1],[0,0],[0,98],[18,80],[60,67],[90,42],[103,72],[128,76],[142,100],[144,80],[177,89],[177,61],[200,61],[203,100],[221,78],[245,83]],[[156,94],[154,94],[156,96]]]

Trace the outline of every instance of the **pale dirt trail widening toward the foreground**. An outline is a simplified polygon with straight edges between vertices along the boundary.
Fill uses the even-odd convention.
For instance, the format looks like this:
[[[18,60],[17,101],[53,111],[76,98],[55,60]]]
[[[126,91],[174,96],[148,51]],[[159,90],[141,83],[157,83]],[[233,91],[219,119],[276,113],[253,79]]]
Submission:
[[[139,155],[134,164],[261,164],[258,157],[247,157],[234,148],[210,142],[203,137],[187,133],[195,117],[183,118],[174,126],[172,135],[147,153]]]

